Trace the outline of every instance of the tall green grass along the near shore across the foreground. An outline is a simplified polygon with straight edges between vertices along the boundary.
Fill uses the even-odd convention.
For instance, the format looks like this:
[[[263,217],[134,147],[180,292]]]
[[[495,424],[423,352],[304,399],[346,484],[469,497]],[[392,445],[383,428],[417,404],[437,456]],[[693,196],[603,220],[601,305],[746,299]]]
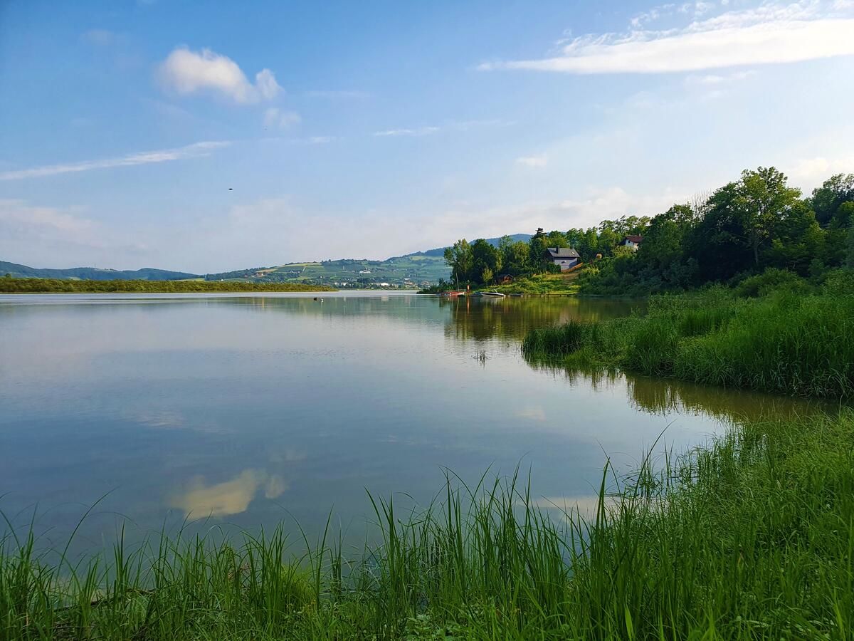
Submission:
[[[449,483],[414,517],[377,501],[382,544],[358,562],[328,541],[290,556],[281,530],[82,562],[7,535],[0,637],[851,638],[854,415],[668,459],[606,469],[592,508],[514,479]]]

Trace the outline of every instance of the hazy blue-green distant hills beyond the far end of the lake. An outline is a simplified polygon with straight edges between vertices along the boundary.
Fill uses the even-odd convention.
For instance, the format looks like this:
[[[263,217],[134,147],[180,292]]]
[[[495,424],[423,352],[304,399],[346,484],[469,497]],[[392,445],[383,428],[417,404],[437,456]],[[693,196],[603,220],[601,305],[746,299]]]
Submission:
[[[527,233],[516,233],[510,238],[528,241]],[[498,245],[500,238],[487,238]],[[222,273],[170,272],[165,269],[144,268],[136,271],[115,269],[71,268],[38,269],[0,261],[0,277],[9,273],[15,278],[40,279],[91,279],[91,280],[235,280],[251,283],[303,283],[331,285],[334,287],[359,287],[389,283],[389,285],[428,285],[439,279],[448,279],[451,269],[444,260],[445,248],[416,251],[405,256],[392,256],[384,261],[342,258],[337,261],[289,262],[266,268],[237,269]]]

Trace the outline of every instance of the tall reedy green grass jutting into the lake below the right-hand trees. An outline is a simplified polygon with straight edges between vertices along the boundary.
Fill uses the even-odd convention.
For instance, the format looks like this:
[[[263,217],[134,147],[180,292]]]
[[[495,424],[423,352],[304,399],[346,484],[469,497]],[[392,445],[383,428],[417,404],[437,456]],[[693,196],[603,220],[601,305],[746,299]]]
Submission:
[[[602,365],[653,376],[804,397],[854,396],[854,296],[725,288],[653,297],[648,313],[529,332],[532,361]]]

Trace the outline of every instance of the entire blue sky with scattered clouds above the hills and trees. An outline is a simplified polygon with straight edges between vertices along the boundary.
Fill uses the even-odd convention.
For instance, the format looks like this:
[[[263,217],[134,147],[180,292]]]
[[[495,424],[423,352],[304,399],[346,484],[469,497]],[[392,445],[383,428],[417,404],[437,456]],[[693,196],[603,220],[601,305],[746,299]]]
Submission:
[[[215,272],[854,172],[854,0],[0,3],[0,260]],[[229,189],[231,188],[231,190]]]

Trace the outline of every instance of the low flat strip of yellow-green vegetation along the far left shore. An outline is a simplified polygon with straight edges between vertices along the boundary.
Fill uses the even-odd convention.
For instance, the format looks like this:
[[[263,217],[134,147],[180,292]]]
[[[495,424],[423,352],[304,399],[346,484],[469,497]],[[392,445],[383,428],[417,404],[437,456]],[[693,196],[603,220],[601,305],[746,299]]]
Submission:
[[[183,293],[191,291],[334,291],[324,285],[206,280],[72,280],[0,278],[0,293]]]

